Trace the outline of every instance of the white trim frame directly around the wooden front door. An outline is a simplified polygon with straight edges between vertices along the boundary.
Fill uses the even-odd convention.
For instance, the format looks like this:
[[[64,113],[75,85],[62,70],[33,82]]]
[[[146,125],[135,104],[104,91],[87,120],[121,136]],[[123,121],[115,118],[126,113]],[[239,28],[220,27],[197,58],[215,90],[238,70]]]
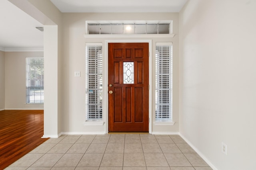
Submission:
[[[120,36],[120,35],[119,35]],[[148,50],[149,50],[149,60],[148,60],[148,66],[149,66],[149,85],[152,86],[152,39],[119,39],[119,40],[105,40],[105,55],[108,56],[108,43],[148,43]],[[105,113],[105,128],[106,128],[106,133],[108,133],[108,57],[103,57],[103,71],[104,71],[104,77],[105,79],[103,80],[103,108],[102,110],[106,110]],[[149,89],[149,98],[148,98],[148,109],[149,109],[149,125],[148,125],[148,133],[152,133],[152,88]]]

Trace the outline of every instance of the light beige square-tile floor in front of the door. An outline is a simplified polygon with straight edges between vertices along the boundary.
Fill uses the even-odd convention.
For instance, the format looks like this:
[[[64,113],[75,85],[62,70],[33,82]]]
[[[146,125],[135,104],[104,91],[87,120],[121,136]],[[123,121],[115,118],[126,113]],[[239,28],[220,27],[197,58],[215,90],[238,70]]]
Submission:
[[[6,170],[212,170],[179,135],[62,135]]]

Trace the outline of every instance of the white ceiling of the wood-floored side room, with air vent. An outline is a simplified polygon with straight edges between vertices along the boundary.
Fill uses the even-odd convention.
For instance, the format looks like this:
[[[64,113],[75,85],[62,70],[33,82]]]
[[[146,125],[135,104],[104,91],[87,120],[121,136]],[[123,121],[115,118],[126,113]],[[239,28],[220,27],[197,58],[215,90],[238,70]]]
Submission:
[[[38,48],[44,45],[43,26],[8,0],[0,0],[0,50]]]

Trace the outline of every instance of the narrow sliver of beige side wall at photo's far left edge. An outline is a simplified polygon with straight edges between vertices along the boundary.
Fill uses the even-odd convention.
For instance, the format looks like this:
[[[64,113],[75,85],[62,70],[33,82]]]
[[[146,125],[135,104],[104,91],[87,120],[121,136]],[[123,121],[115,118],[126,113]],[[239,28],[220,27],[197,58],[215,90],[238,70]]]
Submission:
[[[0,110],[4,110],[4,51],[0,51]]]

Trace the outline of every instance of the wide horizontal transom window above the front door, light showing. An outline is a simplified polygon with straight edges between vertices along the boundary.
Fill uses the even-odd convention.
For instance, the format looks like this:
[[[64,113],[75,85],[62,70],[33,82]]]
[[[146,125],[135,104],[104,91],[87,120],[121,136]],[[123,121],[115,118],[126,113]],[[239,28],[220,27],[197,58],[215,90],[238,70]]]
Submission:
[[[86,21],[87,34],[171,34],[172,21]]]

